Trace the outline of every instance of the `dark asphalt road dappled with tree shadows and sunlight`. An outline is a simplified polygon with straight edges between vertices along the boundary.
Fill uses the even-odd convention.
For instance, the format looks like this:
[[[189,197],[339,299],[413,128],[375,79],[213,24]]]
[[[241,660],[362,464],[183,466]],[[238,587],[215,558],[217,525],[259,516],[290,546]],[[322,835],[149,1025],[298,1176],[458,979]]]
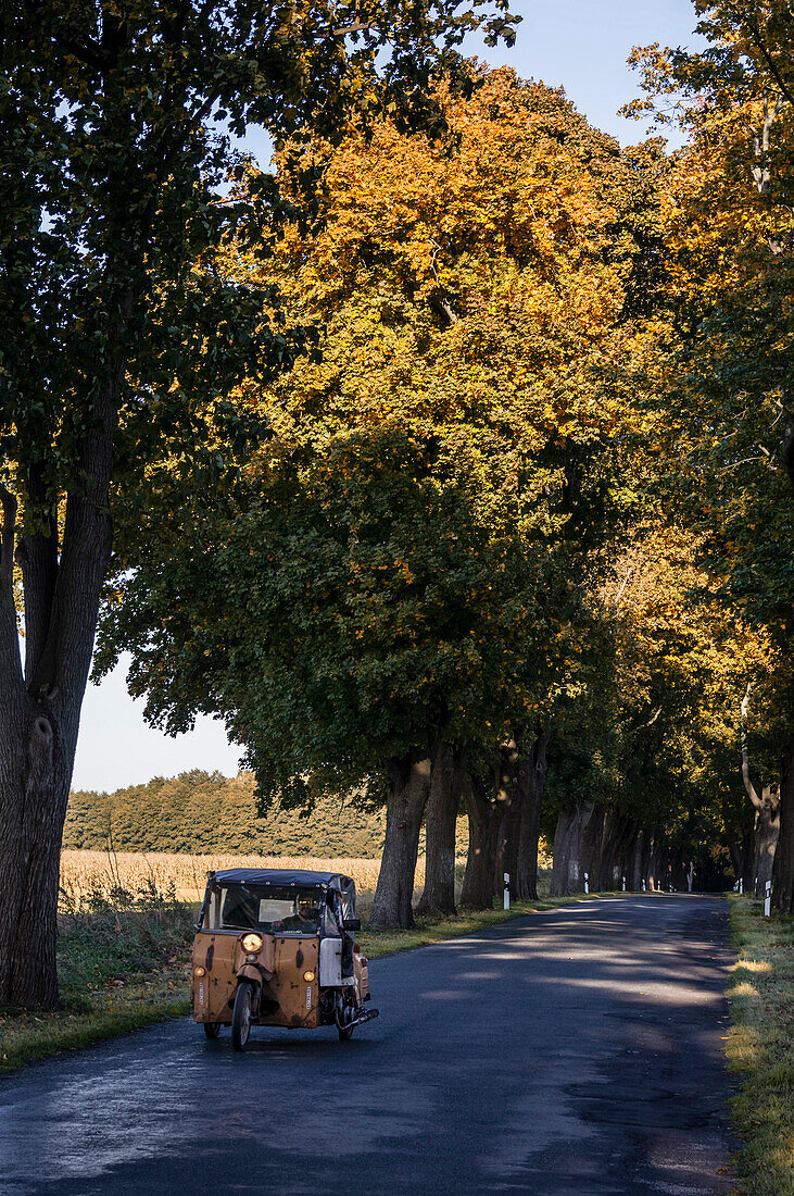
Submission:
[[[375,960],[350,1043],[66,1055],[0,1081],[0,1192],[726,1192],[730,962],[722,901],[605,898]]]

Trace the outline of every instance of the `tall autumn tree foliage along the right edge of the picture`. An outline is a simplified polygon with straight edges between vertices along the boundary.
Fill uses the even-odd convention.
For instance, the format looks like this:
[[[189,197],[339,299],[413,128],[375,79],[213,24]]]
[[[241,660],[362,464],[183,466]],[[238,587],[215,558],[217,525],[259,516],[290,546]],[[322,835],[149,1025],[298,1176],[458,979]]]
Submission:
[[[781,660],[776,715],[763,757],[747,750],[744,785],[768,842],[780,823],[774,901],[794,911],[794,30],[781,0],[695,10],[702,53],[634,55],[646,92],[635,106],[690,136],[663,199],[675,310],[665,444],[726,608],[763,628]],[[753,690],[749,667],[749,718]]]

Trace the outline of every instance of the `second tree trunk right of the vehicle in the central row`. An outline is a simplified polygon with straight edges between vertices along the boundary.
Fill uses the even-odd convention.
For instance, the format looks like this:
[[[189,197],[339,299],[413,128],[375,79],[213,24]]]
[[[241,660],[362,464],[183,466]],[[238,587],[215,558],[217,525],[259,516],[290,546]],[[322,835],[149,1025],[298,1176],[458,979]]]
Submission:
[[[433,761],[425,811],[425,890],[418,914],[455,913],[455,830],[461,797],[460,756],[442,744]]]

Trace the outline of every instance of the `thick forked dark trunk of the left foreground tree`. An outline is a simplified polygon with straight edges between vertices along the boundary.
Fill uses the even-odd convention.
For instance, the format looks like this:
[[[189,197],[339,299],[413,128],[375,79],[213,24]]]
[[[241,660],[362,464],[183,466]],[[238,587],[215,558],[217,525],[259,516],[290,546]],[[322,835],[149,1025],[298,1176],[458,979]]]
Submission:
[[[99,598],[110,556],[107,515],[115,395],[98,401],[68,495],[59,557],[56,511],[39,477],[26,480],[39,530],[19,538],[25,670],[12,593],[16,500],[5,487],[0,556],[0,1002],[54,1007],[59,858]]]

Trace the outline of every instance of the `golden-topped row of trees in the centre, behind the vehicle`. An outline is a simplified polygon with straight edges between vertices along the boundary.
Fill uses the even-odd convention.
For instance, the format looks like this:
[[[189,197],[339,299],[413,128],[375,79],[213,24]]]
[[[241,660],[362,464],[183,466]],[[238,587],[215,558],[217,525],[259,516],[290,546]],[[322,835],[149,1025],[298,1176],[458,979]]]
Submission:
[[[715,881],[720,846],[762,889],[743,700],[752,678],[750,792],[771,798],[788,682],[670,476],[678,166],[510,72],[437,98],[443,139],[386,120],[290,152],[296,207],[324,178],[315,224],[288,224],[264,270],[221,255],[322,319],[319,353],[240,388],[271,437],[234,490],[187,519],[164,470],[103,666],[130,652],[171,731],[222,714],[265,807],[382,794],[376,925],[411,923],[423,814],[421,909],[454,911],[460,808],[466,904],[504,871],[535,893],[541,828],[559,891],[584,871],[684,885],[694,860]]]

